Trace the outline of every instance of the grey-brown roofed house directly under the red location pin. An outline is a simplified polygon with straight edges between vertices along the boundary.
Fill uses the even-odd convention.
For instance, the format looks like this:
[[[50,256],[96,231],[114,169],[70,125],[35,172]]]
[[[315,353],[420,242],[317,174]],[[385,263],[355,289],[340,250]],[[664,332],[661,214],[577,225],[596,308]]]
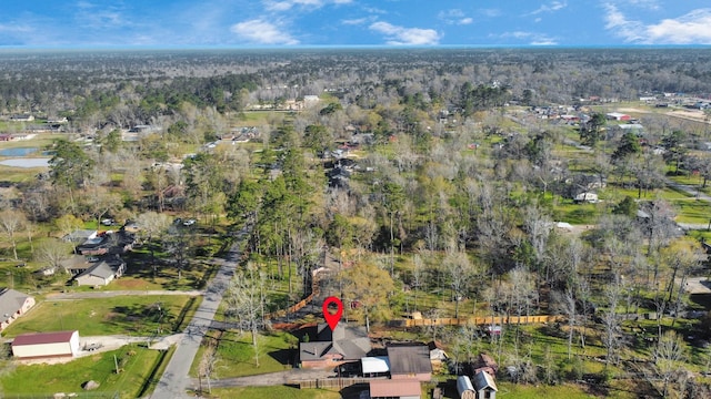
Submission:
[[[360,360],[371,350],[364,327],[348,326],[341,321],[331,331],[326,323],[321,323],[314,335],[316,339],[299,344],[299,361],[303,368],[336,367]]]

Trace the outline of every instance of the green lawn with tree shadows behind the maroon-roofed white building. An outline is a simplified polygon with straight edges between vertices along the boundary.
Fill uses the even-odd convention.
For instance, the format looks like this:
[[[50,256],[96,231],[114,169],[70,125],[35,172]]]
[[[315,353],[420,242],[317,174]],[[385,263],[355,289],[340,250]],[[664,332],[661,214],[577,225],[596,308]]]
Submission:
[[[80,336],[153,336],[159,328],[162,334],[171,334],[180,321],[189,319],[181,317],[186,306],[194,309],[198,303],[199,299],[176,295],[46,300],[13,323],[3,336],[64,329],[77,329]]]

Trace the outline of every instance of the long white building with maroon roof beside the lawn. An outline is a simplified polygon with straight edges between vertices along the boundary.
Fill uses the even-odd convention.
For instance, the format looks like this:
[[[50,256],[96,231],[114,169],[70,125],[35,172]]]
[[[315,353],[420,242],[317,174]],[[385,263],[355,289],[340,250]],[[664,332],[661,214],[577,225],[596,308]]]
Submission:
[[[79,354],[79,331],[22,334],[12,341],[12,355],[21,359],[74,357]]]

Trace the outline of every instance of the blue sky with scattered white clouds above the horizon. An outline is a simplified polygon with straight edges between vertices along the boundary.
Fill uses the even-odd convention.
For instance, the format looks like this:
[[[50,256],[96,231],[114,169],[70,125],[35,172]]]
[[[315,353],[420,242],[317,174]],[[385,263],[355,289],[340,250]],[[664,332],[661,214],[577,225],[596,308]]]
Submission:
[[[711,44],[709,0],[4,0],[0,47]]]

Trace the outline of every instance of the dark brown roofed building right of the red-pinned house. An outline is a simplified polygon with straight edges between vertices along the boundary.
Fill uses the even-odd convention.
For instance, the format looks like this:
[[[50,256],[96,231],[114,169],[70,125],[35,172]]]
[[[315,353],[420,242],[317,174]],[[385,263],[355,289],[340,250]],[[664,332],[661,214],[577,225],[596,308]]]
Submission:
[[[388,346],[390,378],[429,381],[432,378],[430,348],[424,344],[394,344]]]

